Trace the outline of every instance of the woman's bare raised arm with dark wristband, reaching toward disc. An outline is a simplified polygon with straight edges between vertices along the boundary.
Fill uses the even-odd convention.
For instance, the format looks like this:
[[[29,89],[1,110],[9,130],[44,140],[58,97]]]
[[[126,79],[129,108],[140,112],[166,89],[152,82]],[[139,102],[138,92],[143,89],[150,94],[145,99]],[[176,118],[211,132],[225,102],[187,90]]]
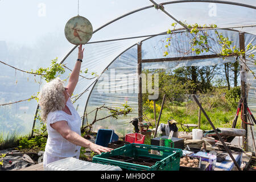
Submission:
[[[83,57],[84,57],[84,49],[82,49],[82,44],[80,44],[77,59],[82,60]],[[67,85],[68,93],[70,96],[72,96],[72,94],[76,88],[76,84],[79,81],[80,69],[81,69],[81,61],[76,61],[75,67],[69,77],[68,85]]]

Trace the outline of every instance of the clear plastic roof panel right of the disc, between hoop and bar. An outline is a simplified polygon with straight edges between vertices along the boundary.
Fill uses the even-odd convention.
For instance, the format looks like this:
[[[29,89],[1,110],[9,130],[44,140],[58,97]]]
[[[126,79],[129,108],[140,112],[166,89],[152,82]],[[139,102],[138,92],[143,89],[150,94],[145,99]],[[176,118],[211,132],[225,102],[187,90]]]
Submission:
[[[168,30],[175,21],[154,7],[137,11],[118,19],[97,31],[90,42],[159,34]]]

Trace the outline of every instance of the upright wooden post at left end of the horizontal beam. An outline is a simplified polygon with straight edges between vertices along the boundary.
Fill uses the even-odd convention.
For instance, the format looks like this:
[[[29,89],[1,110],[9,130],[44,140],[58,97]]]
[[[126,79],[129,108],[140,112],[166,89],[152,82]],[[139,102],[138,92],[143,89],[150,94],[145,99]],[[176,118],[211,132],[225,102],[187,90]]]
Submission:
[[[138,48],[138,117],[139,117],[139,122],[142,122],[142,78],[141,78],[141,73],[142,73],[142,65],[141,65],[141,59],[142,59],[142,53],[141,53],[141,42],[137,44]]]

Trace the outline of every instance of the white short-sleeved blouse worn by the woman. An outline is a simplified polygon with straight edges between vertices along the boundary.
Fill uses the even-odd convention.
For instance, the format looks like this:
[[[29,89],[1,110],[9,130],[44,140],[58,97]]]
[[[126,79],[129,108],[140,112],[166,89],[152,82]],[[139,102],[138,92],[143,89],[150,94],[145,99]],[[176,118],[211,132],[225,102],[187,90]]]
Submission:
[[[70,98],[66,104],[71,111],[71,115],[65,113],[63,110],[56,110],[50,112],[47,115],[47,132],[48,139],[46,143],[46,149],[48,155],[51,155],[55,158],[68,158],[73,156],[80,155],[80,146],[76,146],[69,142],[67,139],[63,138],[60,133],[58,133],[55,129],[51,127],[50,124],[55,123],[57,121],[67,121],[68,126],[72,131],[75,131],[77,134],[81,135],[81,118],[77,113],[75,107],[73,106]]]

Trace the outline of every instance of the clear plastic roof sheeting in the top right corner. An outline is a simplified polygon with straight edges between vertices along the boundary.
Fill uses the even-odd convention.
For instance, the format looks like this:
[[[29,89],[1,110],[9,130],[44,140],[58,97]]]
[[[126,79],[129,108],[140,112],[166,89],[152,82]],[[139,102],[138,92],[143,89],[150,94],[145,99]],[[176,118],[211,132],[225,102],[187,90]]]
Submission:
[[[255,9],[248,7],[218,3],[218,1],[155,1],[162,3],[164,10],[181,22],[188,24],[217,24],[218,27],[249,26],[255,24]],[[225,2],[225,1],[221,1]],[[230,3],[242,3],[256,6],[254,0],[229,1]],[[181,10],[182,9],[182,10]],[[160,11],[160,10],[159,10]],[[246,20],[245,20],[246,19]],[[255,28],[237,27],[234,30],[255,34]]]

